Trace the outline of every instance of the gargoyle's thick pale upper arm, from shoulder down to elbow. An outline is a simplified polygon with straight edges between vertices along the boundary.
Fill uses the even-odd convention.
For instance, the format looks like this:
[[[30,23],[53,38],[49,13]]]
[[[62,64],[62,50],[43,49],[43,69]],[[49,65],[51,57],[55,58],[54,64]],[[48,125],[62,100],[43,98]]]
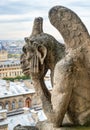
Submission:
[[[62,125],[71,98],[74,82],[72,73],[71,63],[67,63],[64,59],[57,63],[54,73],[54,87],[51,96],[52,113],[49,115],[51,117],[51,122],[56,127]],[[70,79],[72,80],[70,81]]]

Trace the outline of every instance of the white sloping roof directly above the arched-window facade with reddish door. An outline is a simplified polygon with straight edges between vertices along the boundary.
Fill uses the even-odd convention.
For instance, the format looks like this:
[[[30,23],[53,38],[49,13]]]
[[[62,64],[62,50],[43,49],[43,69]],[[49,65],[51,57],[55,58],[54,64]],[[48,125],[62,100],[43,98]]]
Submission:
[[[35,93],[34,88],[30,89],[24,82],[9,82],[0,79],[0,98],[18,96],[22,94]]]

